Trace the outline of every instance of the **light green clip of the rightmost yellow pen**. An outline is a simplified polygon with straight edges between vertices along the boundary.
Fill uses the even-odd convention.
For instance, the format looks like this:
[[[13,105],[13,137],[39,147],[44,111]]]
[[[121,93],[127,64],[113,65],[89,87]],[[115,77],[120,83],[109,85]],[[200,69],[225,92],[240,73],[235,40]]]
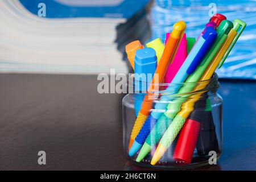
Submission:
[[[245,30],[246,27],[246,23],[243,22],[240,19],[235,19],[234,20],[234,31],[238,32],[238,34],[236,35],[236,37],[234,38],[233,42],[230,44],[228,51],[226,51],[225,55],[222,57],[220,65],[218,66],[218,69],[220,69],[224,63],[224,61],[226,60],[226,57],[228,57],[230,51],[232,50],[232,48],[234,47],[234,44],[236,44],[238,38],[240,37],[240,35],[242,34],[243,30]]]

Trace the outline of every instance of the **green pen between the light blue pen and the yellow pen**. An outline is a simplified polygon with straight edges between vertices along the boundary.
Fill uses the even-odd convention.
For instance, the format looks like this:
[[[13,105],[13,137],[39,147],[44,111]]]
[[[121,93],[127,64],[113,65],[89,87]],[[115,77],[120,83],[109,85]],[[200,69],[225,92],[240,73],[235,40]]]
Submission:
[[[184,86],[180,88],[177,95],[188,93],[193,90],[193,88],[196,86],[195,82],[199,81],[200,77],[207,69],[213,57],[216,55],[218,49],[220,49],[221,45],[228,37],[228,33],[231,28],[233,28],[232,22],[230,22],[229,20],[222,20],[220,26],[218,26],[217,28],[217,38],[214,41],[212,48],[210,48],[201,64],[196,68],[195,72],[188,76]],[[148,135],[145,143],[143,144],[141,151],[139,152],[139,155],[136,159],[137,162],[141,162],[141,160],[144,159],[144,157],[151,151],[151,148],[159,142],[159,140],[167,130],[168,126],[171,124],[172,119],[174,119],[175,115],[180,111],[181,104],[183,104],[183,102],[186,101],[187,98],[188,95],[182,96],[168,104],[167,111],[165,111],[161,115],[158,122],[156,122],[156,125]]]

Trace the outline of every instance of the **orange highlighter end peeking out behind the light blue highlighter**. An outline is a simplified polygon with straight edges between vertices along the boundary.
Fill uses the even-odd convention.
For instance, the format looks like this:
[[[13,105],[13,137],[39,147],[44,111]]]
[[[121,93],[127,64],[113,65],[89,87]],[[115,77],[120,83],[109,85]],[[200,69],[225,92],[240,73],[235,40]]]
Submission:
[[[142,49],[143,46],[139,40],[135,40],[134,42],[131,42],[126,45],[125,51],[127,53],[127,58],[131,64],[131,67],[134,69],[134,57],[135,57],[135,52],[138,49]]]

